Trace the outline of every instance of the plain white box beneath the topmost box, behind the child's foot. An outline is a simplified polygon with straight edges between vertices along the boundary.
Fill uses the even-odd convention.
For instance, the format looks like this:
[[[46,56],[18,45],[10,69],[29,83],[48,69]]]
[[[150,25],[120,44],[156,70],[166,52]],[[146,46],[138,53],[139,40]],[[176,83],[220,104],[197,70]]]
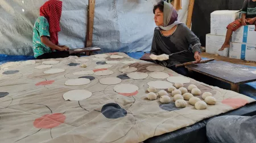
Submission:
[[[224,44],[225,37],[226,36],[207,34],[205,44],[206,53],[219,54],[221,56],[228,57],[229,48],[225,48],[223,51],[218,51],[218,49],[220,49],[221,46]]]

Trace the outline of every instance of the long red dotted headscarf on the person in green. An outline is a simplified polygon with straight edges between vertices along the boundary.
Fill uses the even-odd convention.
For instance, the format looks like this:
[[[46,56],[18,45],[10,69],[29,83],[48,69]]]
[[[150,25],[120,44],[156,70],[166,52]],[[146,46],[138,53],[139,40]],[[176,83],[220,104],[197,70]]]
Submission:
[[[44,16],[49,23],[50,41],[59,44],[58,32],[60,32],[60,16],[62,2],[59,0],[49,0],[40,7],[40,16]]]

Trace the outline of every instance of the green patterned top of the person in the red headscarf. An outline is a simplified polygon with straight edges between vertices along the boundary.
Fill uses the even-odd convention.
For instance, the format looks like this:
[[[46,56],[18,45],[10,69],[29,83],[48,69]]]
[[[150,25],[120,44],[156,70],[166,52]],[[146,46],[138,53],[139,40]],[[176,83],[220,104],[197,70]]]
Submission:
[[[39,16],[38,19],[36,19],[34,28],[33,28],[33,51],[34,51],[34,57],[37,58],[39,55],[42,55],[44,53],[51,53],[51,49],[44,45],[40,37],[42,36],[49,36],[49,23],[44,16]]]

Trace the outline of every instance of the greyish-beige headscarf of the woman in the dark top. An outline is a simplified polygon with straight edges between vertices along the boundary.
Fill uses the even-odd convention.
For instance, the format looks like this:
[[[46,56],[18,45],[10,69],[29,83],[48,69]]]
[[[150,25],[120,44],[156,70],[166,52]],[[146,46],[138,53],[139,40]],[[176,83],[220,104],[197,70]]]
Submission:
[[[177,11],[175,8],[171,5],[171,3],[162,1],[164,3],[163,8],[163,26],[159,26],[160,29],[164,31],[171,30],[175,25],[181,24],[181,22],[177,21]]]

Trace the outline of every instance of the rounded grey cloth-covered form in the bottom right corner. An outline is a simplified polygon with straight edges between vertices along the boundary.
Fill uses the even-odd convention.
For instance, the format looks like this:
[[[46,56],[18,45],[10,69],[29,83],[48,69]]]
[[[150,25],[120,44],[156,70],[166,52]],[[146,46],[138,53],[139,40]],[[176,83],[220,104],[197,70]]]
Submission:
[[[256,142],[256,116],[220,116],[207,123],[210,143]]]

